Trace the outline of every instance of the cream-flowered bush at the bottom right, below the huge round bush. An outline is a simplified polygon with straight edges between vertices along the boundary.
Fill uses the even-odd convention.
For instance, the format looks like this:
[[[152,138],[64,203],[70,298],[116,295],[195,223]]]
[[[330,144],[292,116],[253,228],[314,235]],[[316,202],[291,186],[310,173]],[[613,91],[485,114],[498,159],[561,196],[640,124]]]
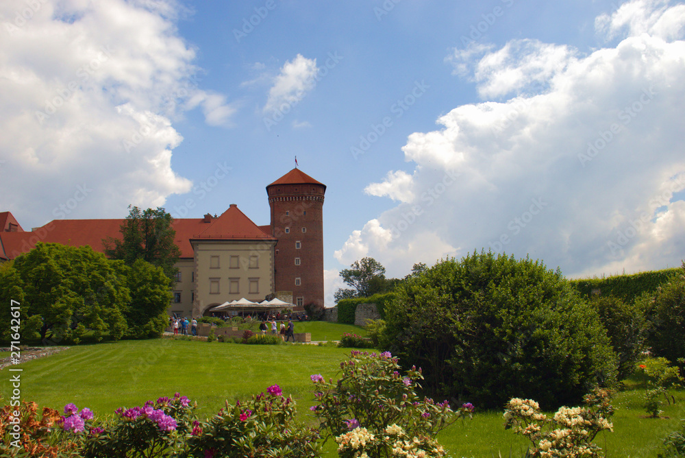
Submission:
[[[595,389],[584,403],[585,407],[561,407],[550,419],[534,400],[513,398],[505,407],[504,427],[530,439],[530,457],[599,457],[601,448],[592,441],[600,431],[613,431],[608,421],[614,413],[610,392]]]

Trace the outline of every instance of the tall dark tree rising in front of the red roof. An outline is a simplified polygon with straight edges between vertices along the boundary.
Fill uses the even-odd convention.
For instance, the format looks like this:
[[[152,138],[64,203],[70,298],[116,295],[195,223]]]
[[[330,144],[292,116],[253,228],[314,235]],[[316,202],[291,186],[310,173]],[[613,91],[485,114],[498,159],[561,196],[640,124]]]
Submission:
[[[121,224],[122,239],[103,239],[105,254],[110,259],[123,260],[128,266],[134,265],[136,259],[142,259],[162,267],[170,279],[175,278],[181,250],[175,243],[176,231],[172,228],[171,215],[161,207],[154,210],[129,208],[129,215]]]

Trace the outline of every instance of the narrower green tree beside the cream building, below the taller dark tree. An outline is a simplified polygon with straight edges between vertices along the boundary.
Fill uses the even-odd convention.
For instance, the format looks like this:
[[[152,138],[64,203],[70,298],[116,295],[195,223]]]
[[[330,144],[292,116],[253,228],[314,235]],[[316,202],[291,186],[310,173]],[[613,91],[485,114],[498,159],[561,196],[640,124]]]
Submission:
[[[142,259],[136,259],[130,267],[121,261],[114,263],[131,292],[131,300],[123,309],[127,335],[136,339],[159,337],[169,323],[166,310],[173,297],[169,277],[162,267]]]

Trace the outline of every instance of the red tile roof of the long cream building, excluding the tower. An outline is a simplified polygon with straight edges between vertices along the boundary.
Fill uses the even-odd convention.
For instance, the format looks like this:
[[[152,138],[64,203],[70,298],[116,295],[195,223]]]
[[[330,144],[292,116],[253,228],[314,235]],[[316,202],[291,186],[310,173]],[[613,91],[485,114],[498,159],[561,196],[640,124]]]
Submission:
[[[0,213],[0,217],[2,215]],[[103,253],[105,248],[102,239],[121,239],[119,231],[123,221],[125,219],[55,219],[32,232],[0,232],[0,257],[14,259],[19,254],[32,250],[39,241],[70,246],[90,245],[93,250]],[[195,238],[276,240],[268,230],[264,232],[236,206],[231,206],[221,217],[212,218],[210,223],[204,222],[203,218],[175,219],[173,228],[182,258],[194,256],[190,239]]]

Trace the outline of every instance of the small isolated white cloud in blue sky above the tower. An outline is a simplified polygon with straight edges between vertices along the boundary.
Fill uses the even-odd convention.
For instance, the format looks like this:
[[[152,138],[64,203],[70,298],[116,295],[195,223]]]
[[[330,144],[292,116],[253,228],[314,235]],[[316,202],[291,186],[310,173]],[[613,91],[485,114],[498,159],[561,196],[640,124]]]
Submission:
[[[297,104],[316,86],[318,73],[316,59],[308,59],[298,54],[295,59],[286,61],[269,89],[269,99],[266,100],[264,112],[282,110],[284,104]]]

